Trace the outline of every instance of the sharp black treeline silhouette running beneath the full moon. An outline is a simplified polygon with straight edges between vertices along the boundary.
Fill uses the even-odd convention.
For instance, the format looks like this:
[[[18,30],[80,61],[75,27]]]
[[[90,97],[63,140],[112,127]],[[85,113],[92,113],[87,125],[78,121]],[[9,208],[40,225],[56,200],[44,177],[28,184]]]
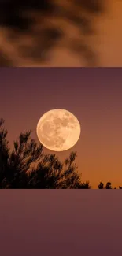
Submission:
[[[91,189],[89,181],[82,182],[76,165],[76,152],[65,161],[55,154],[45,154],[43,145],[31,139],[31,130],[20,133],[9,148],[7,129],[0,119],[0,188]],[[99,189],[112,189],[101,182]],[[116,188],[116,187],[115,187]],[[122,188],[122,187],[119,187]]]

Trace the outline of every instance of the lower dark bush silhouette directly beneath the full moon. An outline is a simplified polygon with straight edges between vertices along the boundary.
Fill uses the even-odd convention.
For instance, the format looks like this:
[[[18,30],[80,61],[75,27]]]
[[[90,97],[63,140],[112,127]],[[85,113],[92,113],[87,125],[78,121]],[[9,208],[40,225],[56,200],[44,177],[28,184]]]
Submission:
[[[72,152],[65,162],[55,154],[46,154],[36,169],[28,175],[30,188],[79,188],[80,176],[76,172],[76,153]]]

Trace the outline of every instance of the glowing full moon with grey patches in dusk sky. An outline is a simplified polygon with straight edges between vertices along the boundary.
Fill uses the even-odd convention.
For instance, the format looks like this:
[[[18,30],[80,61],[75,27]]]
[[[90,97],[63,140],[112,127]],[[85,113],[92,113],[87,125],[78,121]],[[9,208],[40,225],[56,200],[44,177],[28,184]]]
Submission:
[[[78,119],[65,109],[51,109],[44,113],[36,128],[40,143],[53,151],[73,147],[79,140],[80,131]]]

